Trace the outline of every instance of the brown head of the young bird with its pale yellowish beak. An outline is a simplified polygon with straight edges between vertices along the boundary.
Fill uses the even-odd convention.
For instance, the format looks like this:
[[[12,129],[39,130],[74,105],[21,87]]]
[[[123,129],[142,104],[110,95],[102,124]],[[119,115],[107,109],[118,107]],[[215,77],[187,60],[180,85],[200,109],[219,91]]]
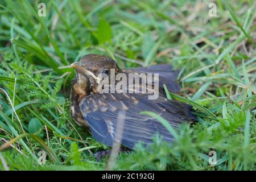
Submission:
[[[109,76],[110,69],[114,69],[115,74],[122,72],[113,59],[104,55],[85,55],[78,62],[72,63],[71,67],[76,71],[76,77],[72,81],[73,87],[77,86],[86,93],[96,93],[97,85],[101,82],[98,77],[101,73]]]

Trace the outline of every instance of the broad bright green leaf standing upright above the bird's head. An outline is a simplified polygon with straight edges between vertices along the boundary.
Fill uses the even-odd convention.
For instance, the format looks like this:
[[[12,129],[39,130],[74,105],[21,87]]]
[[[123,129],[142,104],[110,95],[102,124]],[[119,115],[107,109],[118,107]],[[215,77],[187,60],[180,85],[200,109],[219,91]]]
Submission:
[[[105,19],[101,18],[98,23],[98,42],[100,44],[110,42],[111,37],[112,30],[109,23]]]

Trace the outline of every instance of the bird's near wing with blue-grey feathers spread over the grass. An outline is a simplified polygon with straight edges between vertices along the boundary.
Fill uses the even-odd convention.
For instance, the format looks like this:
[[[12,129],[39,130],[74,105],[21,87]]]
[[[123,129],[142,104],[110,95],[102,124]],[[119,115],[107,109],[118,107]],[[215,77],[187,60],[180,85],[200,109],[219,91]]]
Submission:
[[[166,101],[162,94],[158,100],[148,100],[146,94],[95,94],[80,101],[80,110],[98,142],[113,146],[117,141],[129,148],[139,141],[151,143],[156,133],[167,142],[173,140],[162,123],[141,111],[154,111],[174,127],[193,120],[188,105]]]

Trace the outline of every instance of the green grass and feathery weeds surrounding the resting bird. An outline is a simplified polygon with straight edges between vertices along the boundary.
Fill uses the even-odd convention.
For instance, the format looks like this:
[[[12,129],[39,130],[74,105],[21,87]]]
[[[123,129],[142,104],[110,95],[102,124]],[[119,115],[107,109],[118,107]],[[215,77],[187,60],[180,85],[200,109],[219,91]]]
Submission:
[[[40,1],[42,2],[42,1]],[[67,67],[87,53],[105,54],[121,68],[168,63],[180,69],[179,95],[198,123],[172,129],[172,146],[118,155],[111,169],[255,170],[256,20],[254,1],[39,1],[0,5],[0,169],[98,170],[108,147],[69,115]],[[42,152],[46,164],[40,165]],[[209,164],[215,151],[217,164]]]

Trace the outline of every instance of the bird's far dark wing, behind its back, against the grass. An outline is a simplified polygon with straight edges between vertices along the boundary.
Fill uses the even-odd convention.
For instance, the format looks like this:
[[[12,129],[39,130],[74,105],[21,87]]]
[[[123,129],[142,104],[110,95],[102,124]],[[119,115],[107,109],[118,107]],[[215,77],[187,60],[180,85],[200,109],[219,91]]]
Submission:
[[[158,73],[159,86],[163,86],[163,84],[166,84],[170,92],[180,92],[180,86],[176,82],[179,71],[174,70],[170,64],[158,64],[151,65],[150,67],[129,68],[123,70],[123,72]]]

